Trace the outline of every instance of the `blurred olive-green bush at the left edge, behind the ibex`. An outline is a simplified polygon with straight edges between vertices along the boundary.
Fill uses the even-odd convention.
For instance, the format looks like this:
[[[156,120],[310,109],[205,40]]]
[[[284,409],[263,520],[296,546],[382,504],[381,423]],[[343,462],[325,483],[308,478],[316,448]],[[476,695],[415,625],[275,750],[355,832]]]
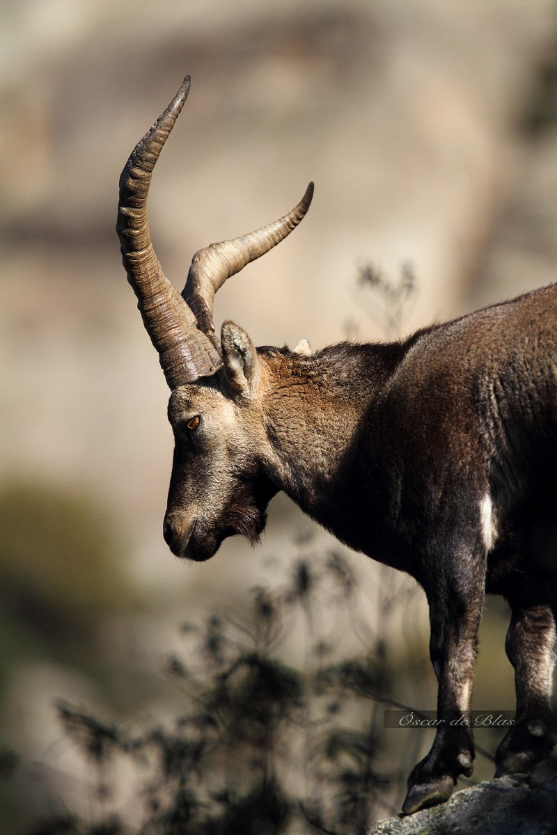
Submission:
[[[83,667],[95,620],[129,604],[109,520],[88,495],[18,481],[0,530],[0,688],[26,658]]]

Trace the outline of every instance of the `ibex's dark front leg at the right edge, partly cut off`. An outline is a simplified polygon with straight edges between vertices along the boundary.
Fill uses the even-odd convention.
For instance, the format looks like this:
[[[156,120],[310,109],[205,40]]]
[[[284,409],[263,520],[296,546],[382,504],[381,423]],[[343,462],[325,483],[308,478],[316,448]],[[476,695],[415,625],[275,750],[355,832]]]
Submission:
[[[557,649],[554,610],[546,603],[527,603],[524,592],[528,590],[520,599],[509,598],[513,614],[505,648],[514,666],[516,719],[495,754],[496,777],[530,772],[557,741],[551,710]]]

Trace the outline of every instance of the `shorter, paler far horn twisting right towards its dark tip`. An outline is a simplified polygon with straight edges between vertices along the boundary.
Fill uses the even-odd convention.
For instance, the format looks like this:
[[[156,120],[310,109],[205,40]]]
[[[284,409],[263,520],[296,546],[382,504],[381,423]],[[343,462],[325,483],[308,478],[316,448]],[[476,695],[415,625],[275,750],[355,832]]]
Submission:
[[[234,240],[210,244],[195,253],[185,282],[182,296],[195,313],[197,326],[208,337],[215,331],[213,323],[213,299],[215,292],[227,278],[240,272],[246,264],[255,261],[290,235],[300,223],[311,205],[313,183],[307,188],[298,205],[287,215],[262,226],[256,232],[241,235]]]

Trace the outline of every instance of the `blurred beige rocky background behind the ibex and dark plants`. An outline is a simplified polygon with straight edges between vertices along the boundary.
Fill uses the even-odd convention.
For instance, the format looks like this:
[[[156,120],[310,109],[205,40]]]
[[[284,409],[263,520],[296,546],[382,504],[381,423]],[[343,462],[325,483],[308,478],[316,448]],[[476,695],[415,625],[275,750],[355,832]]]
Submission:
[[[193,566],[166,549],[168,391],[114,233],[129,151],[190,73],[149,203],[180,289],[201,245],[275,219],[316,181],[301,228],[216,298],[216,321],[257,344],[383,338],[357,282],[369,265],[412,265],[403,332],[456,316],[554,279],[557,8],[3,0],[1,14],[0,741],[19,767],[0,817],[23,832],[90,801],[58,697],[126,721],[164,715],[176,625],[241,608],[301,543],[331,546],[277,497],[257,552],[232,539]],[[399,581],[347,559],[392,657],[427,671],[421,596],[410,652],[396,607],[377,600]],[[513,706],[502,611],[489,601],[475,706]],[[432,679],[418,706],[434,706]]]

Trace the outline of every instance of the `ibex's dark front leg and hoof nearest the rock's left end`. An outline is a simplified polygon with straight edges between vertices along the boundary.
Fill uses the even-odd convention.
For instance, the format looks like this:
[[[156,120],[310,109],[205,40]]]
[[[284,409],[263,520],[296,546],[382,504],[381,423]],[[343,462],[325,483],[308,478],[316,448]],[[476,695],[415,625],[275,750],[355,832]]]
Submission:
[[[413,768],[403,812],[411,814],[450,797],[459,775],[473,770],[470,726],[456,721],[470,710],[479,622],[484,606],[484,554],[458,552],[435,559],[423,583],[429,603],[429,651],[438,678],[438,730],[431,751]]]

